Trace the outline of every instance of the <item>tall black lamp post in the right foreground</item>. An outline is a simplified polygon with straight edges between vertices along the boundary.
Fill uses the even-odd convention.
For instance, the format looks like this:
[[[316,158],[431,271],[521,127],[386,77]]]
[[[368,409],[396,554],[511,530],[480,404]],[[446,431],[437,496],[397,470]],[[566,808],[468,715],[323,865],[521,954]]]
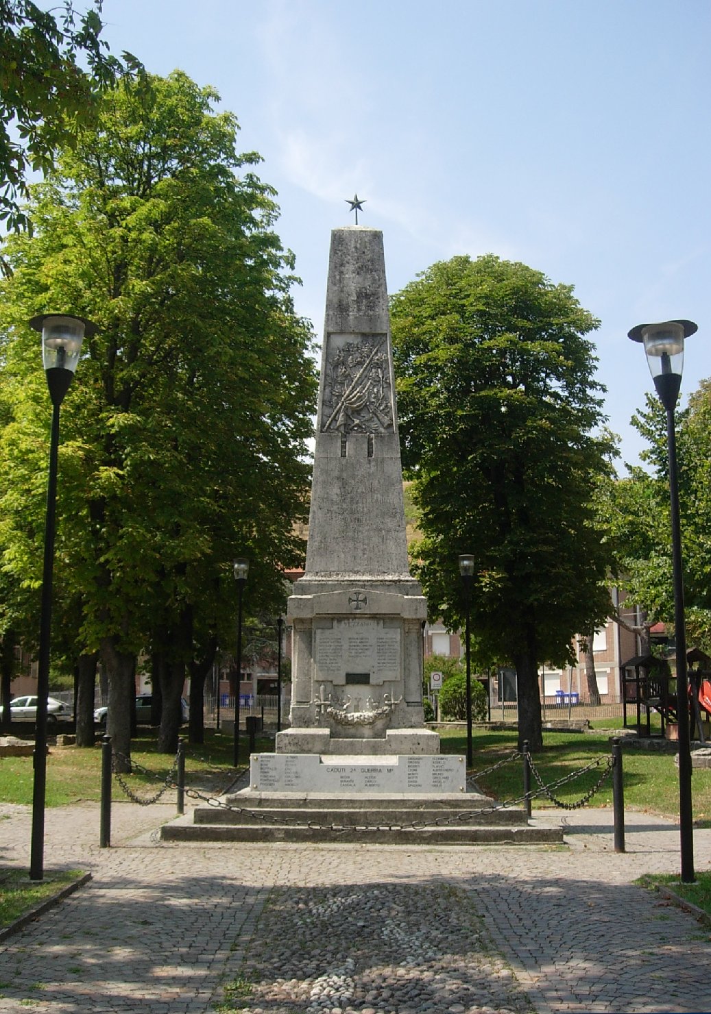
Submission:
[[[689,734],[689,690],[687,638],[684,623],[684,578],[682,534],[679,519],[679,479],[674,408],[682,385],[684,340],[697,331],[693,320],[640,323],[629,332],[633,342],[642,342],[659,401],[666,410],[666,446],[669,459],[671,506],[671,564],[673,572],[674,639],[677,642],[677,712],[679,723],[679,822],[682,851],[682,881],[694,882],[694,822],[692,815],[692,758]]]

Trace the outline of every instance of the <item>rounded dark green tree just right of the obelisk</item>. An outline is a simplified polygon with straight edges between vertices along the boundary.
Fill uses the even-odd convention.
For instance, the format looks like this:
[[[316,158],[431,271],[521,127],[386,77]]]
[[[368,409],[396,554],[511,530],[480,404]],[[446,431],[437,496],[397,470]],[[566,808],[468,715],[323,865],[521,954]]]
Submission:
[[[518,675],[519,738],[542,745],[538,665],[571,658],[609,611],[590,489],[609,467],[597,321],[566,285],[494,256],[436,264],[392,300],[403,460],[430,608],[464,626],[457,555],[472,553],[472,629]]]

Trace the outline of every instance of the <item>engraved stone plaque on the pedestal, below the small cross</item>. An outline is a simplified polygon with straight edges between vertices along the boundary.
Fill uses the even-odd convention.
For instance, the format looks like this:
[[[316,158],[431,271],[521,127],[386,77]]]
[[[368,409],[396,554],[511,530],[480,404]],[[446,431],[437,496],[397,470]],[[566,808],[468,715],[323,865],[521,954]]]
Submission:
[[[364,682],[400,679],[400,628],[381,620],[334,620],[314,630],[315,679],[341,684],[346,673],[364,673]],[[352,680],[351,680],[352,681]]]

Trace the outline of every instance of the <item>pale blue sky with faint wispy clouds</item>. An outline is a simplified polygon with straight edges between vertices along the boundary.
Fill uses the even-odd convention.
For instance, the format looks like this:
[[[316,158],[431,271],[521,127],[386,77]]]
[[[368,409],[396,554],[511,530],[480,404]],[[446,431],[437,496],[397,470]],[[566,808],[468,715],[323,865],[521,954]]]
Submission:
[[[711,376],[707,0],[104,0],[103,19],[114,52],[236,114],[319,336],[357,192],[392,292],[490,251],[575,286],[625,460],[653,389],[631,327],[697,321],[683,394]]]

